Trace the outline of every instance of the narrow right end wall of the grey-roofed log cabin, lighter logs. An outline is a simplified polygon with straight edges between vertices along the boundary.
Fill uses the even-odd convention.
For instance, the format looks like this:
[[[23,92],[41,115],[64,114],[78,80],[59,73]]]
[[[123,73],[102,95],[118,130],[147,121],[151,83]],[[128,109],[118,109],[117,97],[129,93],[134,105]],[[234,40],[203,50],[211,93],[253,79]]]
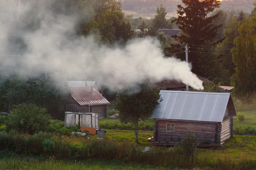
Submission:
[[[221,144],[229,139],[233,134],[233,118],[229,118],[221,122]]]

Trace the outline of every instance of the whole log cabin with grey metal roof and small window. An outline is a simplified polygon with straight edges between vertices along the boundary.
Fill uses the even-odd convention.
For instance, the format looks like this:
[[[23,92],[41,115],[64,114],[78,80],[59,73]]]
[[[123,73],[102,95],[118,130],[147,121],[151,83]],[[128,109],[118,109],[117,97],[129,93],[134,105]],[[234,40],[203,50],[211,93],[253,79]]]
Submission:
[[[154,142],[181,142],[188,131],[201,144],[223,144],[233,135],[235,107],[230,93],[160,91],[154,109]]]

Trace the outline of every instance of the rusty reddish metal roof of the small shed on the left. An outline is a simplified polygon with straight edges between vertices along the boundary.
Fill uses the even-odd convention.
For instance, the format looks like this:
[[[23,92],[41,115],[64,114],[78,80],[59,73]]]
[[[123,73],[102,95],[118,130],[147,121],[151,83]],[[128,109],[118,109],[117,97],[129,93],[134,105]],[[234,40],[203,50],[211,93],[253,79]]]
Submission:
[[[107,105],[108,100],[103,97],[95,88],[91,93],[91,87],[71,87],[72,97],[81,106],[85,105]]]

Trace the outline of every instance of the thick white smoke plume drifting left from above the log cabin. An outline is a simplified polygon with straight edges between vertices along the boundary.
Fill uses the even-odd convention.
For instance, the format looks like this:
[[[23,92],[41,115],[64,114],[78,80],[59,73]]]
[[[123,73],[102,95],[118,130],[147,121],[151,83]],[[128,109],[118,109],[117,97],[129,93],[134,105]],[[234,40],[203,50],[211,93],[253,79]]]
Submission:
[[[175,79],[197,90],[204,88],[188,63],[163,57],[158,40],[131,40],[122,48],[100,46],[93,35],[76,35],[75,14],[54,14],[49,10],[54,3],[35,5],[41,1],[34,0],[32,6],[30,1],[0,3],[0,71],[58,71],[77,79],[93,77],[112,90],[134,85],[145,75],[154,81]],[[32,8],[36,15],[29,13]],[[38,25],[30,28],[32,21]]]

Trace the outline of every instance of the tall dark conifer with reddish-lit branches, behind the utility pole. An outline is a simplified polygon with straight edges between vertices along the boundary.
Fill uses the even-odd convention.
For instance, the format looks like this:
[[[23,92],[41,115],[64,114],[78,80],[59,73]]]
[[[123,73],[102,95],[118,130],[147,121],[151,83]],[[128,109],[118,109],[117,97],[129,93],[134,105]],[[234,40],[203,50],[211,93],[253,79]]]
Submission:
[[[217,19],[219,13],[207,16],[215,8],[220,7],[219,0],[181,0],[185,5],[177,5],[177,18],[172,21],[176,22],[178,28],[180,29],[181,34],[179,36],[173,36],[175,40],[180,42],[180,44],[189,44],[191,51],[189,53],[189,62],[192,62],[192,71],[195,74],[201,76],[207,76],[208,73],[205,73],[200,67],[200,63],[205,63],[209,67],[214,67],[209,63],[214,60],[214,58],[205,58],[202,57],[205,55],[203,52],[212,52],[202,51],[202,45],[212,44],[215,37],[217,36],[218,28],[222,25],[213,25],[212,21]],[[197,49],[197,48],[200,48]],[[200,51],[200,52],[199,52]],[[202,52],[202,53],[201,53]]]

